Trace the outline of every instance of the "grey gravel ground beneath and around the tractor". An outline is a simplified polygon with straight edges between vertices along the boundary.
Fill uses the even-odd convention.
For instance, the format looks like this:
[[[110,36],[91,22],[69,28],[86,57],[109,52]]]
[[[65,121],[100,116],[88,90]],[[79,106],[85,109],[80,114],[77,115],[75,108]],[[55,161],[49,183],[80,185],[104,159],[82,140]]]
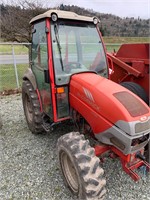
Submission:
[[[31,134],[19,94],[1,97],[0,113],[0,200],[74,200],[64,186],[56,154],[57,139],[72,127],[65,124],[50,134]],[[148,176],[132,181],[118,159],[106,159],[102,167],[106,200],[150,199]]]

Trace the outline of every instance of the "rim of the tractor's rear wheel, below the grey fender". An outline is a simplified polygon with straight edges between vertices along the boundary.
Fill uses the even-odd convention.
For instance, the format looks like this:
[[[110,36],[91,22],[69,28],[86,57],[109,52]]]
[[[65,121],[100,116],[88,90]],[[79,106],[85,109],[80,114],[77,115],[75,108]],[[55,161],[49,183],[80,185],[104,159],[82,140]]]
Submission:
[[[25,96],[25,112],[27,120],[31,123],[33,120],[33,111],[32,111],[32,104],[28,95]]]

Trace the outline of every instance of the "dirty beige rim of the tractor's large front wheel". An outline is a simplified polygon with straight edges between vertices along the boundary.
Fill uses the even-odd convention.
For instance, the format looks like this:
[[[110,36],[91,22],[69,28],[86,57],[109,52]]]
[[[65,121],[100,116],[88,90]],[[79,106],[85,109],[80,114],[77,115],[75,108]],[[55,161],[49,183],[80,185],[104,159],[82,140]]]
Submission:
[[[61,167],[64,177],[74,193],[79,191],[79,182],[75,167],[65,151],[60,154]]]

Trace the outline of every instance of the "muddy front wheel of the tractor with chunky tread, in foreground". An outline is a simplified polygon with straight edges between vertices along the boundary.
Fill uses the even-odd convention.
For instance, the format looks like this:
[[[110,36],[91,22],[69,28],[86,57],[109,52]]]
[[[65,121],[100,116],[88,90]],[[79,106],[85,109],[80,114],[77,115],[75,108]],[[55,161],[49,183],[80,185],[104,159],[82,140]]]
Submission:
[[[84,200],[103,199],[104,171],[89,141],[79,132],[71,132],[58,139],[57,148],[65,183],[73,194]]]

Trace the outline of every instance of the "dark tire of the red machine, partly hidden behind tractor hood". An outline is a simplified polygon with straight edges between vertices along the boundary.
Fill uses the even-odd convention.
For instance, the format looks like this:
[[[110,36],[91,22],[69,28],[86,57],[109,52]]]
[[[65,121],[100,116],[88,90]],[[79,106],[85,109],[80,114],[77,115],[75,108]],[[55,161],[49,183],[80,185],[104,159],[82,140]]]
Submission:
[[[146,104],[148,104],[148,96],[146,95],[145,90],[138,85],[137,83],[134,82],[122,82],[120,83],[123,87],[127,88],[134,94],[136,94],[138,97],[140,97]]]

